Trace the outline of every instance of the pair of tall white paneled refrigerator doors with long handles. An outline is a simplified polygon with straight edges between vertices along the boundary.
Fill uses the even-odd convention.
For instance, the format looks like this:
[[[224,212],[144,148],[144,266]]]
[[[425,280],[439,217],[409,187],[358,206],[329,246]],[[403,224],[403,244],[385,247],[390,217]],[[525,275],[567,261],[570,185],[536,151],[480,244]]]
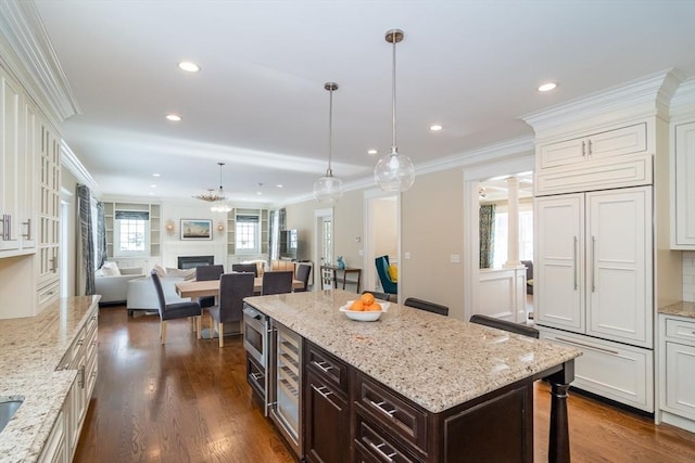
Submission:
[[[652,189],[538,197],[535,321],[652,347]]]

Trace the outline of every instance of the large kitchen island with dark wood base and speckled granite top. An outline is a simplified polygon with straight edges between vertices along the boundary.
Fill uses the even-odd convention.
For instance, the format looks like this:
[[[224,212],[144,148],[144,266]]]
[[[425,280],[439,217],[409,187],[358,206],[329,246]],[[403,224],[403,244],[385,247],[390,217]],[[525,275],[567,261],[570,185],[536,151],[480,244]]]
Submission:
[[[299,458],[531,462],[532,383],[548,378],[549,460],[569,461],[566,393],[579,349],[393,303],[378,321],[356,322],[339,311],[355,297],[332,290],[245,299],[304,342]]]

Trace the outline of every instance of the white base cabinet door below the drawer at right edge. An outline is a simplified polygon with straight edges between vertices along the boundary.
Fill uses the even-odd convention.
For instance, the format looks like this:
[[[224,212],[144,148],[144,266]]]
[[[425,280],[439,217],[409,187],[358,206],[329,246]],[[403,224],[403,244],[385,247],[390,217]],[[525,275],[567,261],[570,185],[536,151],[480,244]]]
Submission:
[[[695,420],[695,347],[666,343],[666,407]]]

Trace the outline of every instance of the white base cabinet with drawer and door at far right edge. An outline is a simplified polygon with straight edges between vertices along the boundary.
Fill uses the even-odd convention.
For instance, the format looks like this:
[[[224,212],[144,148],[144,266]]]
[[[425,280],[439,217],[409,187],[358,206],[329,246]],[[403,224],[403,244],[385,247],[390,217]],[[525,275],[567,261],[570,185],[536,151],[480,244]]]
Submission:
[[[661,419],[695,432],[695,319],[659,316]]]

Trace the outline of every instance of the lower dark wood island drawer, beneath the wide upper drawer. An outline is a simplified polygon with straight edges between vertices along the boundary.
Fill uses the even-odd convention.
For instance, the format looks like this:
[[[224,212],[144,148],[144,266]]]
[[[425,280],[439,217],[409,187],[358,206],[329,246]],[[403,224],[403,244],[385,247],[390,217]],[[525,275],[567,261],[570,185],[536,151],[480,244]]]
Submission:
[[[371,423],[359,413],[355,420],[355,462],[424,462],[425,459],[399,442],[382,426]]]

